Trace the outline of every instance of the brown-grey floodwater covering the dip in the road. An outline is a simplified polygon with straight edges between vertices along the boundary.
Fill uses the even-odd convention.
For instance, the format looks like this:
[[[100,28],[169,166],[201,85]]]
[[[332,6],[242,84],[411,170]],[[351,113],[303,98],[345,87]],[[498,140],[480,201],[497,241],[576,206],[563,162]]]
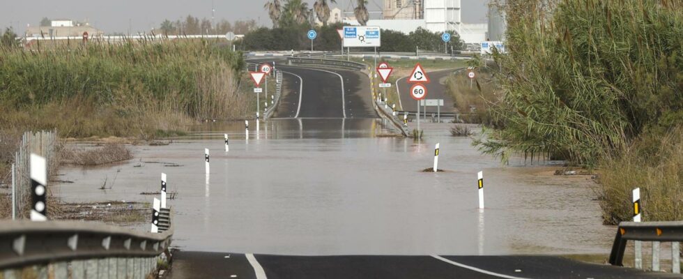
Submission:
[[[286,255],[509,255],[607,253],[588,176],[552,166],[502,165],[465,137],[425,132],[422,142],[385,133],[375,119],[209,123],[168,146],[132,146],[135,159],[62,169],[67,202],[127,200],[168,174],[183,250]],[[448,124],[440,124],[448,125]],[[430,126],[425,124],[425,128]],[[433,127],[431,127],[433,128]],[[224,152],[223,133],[230,151]],[[440,142],[439,169],[433,146]],[[204,149],[210,149],[210,175]],[[486,209],[479,211],[477,172]],[[105,178],[114,183],[100,190]]]

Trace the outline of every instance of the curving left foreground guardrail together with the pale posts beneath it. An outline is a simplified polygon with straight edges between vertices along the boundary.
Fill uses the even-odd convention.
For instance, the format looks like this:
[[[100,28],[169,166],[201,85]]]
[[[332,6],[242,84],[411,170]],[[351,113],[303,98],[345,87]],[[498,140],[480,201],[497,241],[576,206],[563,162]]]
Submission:
[[[0,275],[146,278],[156,271],[157,257],[168,256],[174,233],[170,209],[160,216],[160,233],[79,221],[2,221]]]

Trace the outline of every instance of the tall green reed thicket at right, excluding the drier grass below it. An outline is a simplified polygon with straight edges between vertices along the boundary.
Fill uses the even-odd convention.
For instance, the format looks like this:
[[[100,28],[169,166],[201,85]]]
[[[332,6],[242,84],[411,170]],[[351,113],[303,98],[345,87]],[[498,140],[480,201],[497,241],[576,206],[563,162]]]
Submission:
[[[509,0],[486,153],[594,166],[683,121],[683,2]],[[498,122],[498,121],[496,121]]]

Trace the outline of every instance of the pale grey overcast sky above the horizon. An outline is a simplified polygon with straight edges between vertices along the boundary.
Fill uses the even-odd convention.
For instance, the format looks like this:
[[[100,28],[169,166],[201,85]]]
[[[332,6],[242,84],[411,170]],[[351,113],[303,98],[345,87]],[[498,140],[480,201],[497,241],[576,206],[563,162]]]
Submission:
[[[312,7],[314,0],[304,0]],[[351,0],[337,0],[348,7]],[[384,0],[368,0],[369,10],[381,10]],[[487,0],[461,0],[465,23],[486,22]],[[23,33],[26,24],[38,25],[40,19],[68,18],[89,20],[106,33],[133,33],[158,28],[164,19],[178,20],[188,14],[211,17],[211,5],[216,9],[216,20],[256,20],[270,27],[268,13],[263,9],[265,0],[0,0],[0,27],[14,27]],[[353,0],[355,2],[355,0]],[[332,4],[335,6],[335,4]]]

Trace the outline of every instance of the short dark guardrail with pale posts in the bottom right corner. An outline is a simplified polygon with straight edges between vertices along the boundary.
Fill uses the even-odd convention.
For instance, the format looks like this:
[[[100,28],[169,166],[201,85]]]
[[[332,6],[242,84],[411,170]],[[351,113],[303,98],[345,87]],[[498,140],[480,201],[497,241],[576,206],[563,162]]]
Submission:
[[[623,266],[627,241],[652,242],[652,270],[659,271],[659,243],[671,242],[673,273],[680,273],[680,242],[683,241],[683,221],[675,222],[622,222],[617,227],[609,263]],[[638,255],[636,255],[638,257]]]

